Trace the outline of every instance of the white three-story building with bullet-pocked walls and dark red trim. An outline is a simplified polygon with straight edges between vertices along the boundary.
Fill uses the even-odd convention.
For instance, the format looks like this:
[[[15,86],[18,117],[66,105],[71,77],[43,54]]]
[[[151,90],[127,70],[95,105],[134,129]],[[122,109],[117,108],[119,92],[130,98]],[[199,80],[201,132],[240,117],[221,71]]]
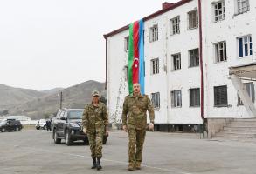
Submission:
[[[143,18],[145,91],[157,130],[202,124],[204,118],[256,117],[255,20],[253,0],[163,3]],[[119,124],[128,95],[128,25],[104,37],[107,107]],[[239,74],[244,65],[250,65],[248,76]]]

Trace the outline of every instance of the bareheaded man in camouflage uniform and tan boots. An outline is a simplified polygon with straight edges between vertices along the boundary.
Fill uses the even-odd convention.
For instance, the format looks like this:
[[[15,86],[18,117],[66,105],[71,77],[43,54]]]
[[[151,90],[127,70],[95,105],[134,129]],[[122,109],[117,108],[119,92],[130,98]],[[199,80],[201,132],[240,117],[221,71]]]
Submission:
[[[133,85],[133,93],[125,97],[122,110],[122,128],[128,131],[128,170],[141,169],[143,143],[147,128],[147,110],[149,111],[149,129],[154,130],[155,113],[147,95],[140,92],[140,84]]]

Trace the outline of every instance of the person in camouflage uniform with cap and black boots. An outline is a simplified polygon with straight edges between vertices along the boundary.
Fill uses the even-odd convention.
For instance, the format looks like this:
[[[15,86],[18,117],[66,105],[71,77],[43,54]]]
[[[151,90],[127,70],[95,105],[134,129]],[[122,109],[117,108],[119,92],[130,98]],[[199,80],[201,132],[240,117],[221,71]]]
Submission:
[[[91,157],[93,158],[92,169],[102,169],[100,158],[102,157],[103,134],[107,132],[108,117],[106,105],[99,102],[100,93],[94,90],[93,101],[87,104],[82,117],[83,131],[89,139]],[[97,159],[97,161],[96,161]]]

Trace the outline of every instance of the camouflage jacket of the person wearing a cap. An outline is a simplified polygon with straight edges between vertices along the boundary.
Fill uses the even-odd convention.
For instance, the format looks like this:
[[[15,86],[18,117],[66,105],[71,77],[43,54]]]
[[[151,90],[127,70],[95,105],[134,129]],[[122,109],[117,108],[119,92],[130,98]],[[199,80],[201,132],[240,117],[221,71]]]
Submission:
[[[87,104],[83,113],[82,124],[86,131],[102,129],[103,126],[106,128],[108,125],[106,105],[103,103],[99,103],[98,106]]]

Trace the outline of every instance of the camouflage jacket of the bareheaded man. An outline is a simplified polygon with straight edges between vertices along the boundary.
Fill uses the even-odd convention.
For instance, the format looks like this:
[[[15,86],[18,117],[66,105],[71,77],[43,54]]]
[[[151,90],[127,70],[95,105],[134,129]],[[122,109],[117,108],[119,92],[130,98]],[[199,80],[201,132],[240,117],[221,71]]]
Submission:
[[[149,111],[150,122],[154,123],[155,113],[149,96],[134,97],[131,94],[125,97],[121,116],[122,125],[128,125],[128,128],[138,130],[146,129],[147,110]]]

